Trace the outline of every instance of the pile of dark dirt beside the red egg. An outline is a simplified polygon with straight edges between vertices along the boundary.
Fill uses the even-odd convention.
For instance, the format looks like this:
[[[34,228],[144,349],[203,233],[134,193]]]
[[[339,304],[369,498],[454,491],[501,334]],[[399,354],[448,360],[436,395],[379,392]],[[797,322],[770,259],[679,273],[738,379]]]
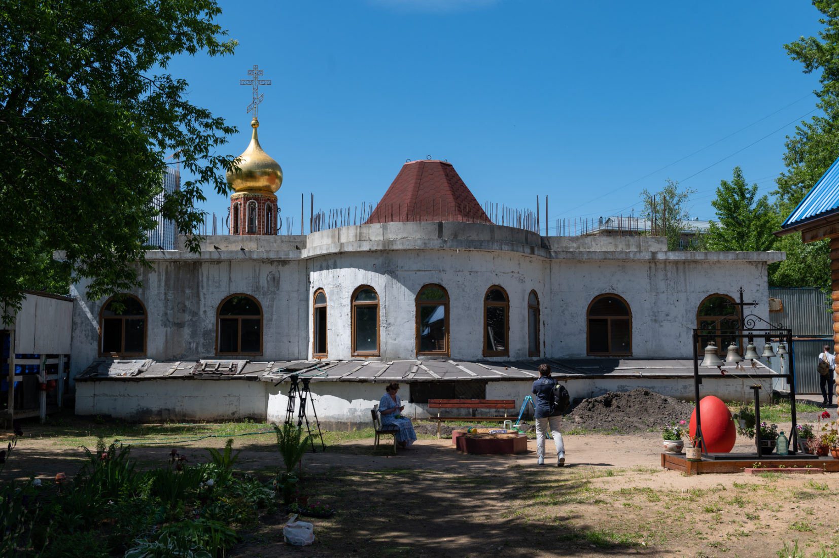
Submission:
[[[649,389],[609,392],[583,399],[566,415],[564,429],[572,424],[586,430],[629,432],[658,430],[671,420],[690,420],[694,405],[680,399],[656,394]]]

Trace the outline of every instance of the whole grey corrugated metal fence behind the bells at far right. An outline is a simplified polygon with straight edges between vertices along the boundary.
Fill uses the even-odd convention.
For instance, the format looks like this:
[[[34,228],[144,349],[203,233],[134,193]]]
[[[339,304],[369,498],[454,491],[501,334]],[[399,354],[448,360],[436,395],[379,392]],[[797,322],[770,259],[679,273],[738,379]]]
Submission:
[[[819,373],[816,372],[821,347],[832,345],[833,316],[827,297],[815,287],[770,288],[769,296],[784,305],[780,312],[770,312],[769,321],[792,329],[795,343],[795,390],[800,394],[819,394]],[[774,343],[777,348],[777,343]],[[784,362],[786,372],[787,362]],[[769,368],[780,370],[778,358],[772,358]]]

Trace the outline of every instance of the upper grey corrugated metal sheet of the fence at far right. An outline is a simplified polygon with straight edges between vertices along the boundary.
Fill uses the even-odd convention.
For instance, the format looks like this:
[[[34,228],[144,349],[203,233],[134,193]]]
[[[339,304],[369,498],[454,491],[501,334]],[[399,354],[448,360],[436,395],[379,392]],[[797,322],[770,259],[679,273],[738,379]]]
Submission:
[[[769,321],[780,322],[793,336],[833,336],[833,315],[826,295],[816,287],[769,288],[769,296],[779,299],[784,310],[769,313]]]

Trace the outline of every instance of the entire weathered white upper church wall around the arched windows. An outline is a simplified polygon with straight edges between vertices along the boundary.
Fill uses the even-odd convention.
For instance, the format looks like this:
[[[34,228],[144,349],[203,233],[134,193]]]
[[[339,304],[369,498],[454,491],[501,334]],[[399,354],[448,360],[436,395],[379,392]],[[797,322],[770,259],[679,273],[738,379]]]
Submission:
[[[328,357],[351,357],[351,297],[368,284],[380,300],[383,360],[415,356],[415,296],[424,284],[450,296],[451,357],[482,359],[483,297],[507,290],[509,356],[527,358],[527,297],[541,310],[540,346],[550,357],[586,355],[586,310],[615,293],[633,316],[634,357],[687,357],[696,309],[706,295],[743,286],[768,316],[766,266],[783,253],[667,252],[649,237],[540,237],[475,223],[383,223],[294,237],[207,237],[201,253],[154,250],[137,295],[148,312],[147,356],[158,361],[214,357],[216,310],[244,293],[263,307],[260,360],[311,356],[315,289],[326,290]],[[217,248],[217,249],[216,249]],[[241,248],[241,249],[240,249]],[[98,356],[99,312],[74,285],[71,376]]]

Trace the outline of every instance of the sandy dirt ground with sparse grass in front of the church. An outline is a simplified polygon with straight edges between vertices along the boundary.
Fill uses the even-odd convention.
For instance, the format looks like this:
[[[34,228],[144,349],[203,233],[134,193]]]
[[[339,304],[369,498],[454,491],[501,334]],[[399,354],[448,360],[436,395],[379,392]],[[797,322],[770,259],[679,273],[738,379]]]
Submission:
[[[561,430],[580,431],[573,416]],[[780,427],[789,431],[789,424]],[[78,449],[42,437],[37,426],[27,430],[4,478],[76,472]],[[526,453],[508,456],[466,455],[450,439],[430,436],[395,456],[387,441],[374,449],[372,437],[332,443],[306,454],[300,467],[310,503],[337,509],[329,519],[310,519],[315,543],[285,545],[288,514],[278,510],[242,530],[229,555],[774,557],[795,541],[807,558],[839,555],[837,473],[687,477],[660,467],[658,431],[564,438],[561,468],[550,460],[550,441],[545,466],[536,465],[534,440]],[[205,462],[206,447],[224,441],[178,447],[191,463]],[[752,451],[752,443],[738,438],[733,451]],[[281,465],[273,432],[238,437],[234,447],[243,450],[237,467],[265,480]],[[167,462],[170,449],[134,447],[132,455],[150,467]]]

